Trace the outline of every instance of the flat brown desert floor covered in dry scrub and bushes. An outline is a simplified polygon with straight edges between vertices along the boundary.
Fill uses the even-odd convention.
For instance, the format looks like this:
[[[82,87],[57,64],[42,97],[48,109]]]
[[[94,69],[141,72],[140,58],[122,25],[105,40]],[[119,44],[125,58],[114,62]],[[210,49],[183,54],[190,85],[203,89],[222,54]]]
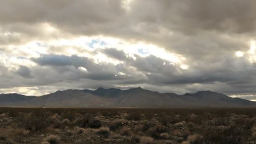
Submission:
[[[0,144],[256,144],[256,108],[0,108]]]

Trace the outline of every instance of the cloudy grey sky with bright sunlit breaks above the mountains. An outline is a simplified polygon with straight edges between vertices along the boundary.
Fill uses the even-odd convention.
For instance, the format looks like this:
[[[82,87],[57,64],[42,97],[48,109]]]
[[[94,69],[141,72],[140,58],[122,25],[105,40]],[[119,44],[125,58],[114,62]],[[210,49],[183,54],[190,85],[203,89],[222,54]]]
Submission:
[[[1,0],[0,93],[141,87],[256,100],[255,0]]]

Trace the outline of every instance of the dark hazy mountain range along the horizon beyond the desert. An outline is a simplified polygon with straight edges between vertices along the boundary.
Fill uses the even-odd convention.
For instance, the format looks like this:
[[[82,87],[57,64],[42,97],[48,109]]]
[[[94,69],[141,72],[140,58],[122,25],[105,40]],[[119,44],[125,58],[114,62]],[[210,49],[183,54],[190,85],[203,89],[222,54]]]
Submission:
[[[255,107],[256,102],[222,93],[159,93],[142,88],[56,91],[43,96],[0,94],[0,107]]]

